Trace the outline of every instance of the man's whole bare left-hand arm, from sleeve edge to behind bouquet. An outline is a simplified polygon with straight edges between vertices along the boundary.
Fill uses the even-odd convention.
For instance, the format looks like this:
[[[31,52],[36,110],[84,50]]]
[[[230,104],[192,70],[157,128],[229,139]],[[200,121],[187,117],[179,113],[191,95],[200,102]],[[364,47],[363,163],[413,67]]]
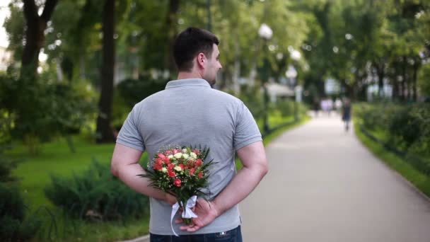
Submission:
[[[164,200],[169,204],[174,204],[176,202],[175,197],[149,186],[151,182],[148,178],[137,176],[145,173],[144,169],[141,168],[139,164],[141,154],[142,152],[137,149],[129,148],[122,144],[116,144],[112,155],[110,171],[136,192],[154,197],[158,200]]]

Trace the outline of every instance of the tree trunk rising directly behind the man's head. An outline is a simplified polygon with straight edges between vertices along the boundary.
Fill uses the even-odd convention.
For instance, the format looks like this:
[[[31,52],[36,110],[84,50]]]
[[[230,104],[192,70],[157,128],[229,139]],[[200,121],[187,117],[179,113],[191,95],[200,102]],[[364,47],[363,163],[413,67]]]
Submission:
[[[175,43],[175,37],[178,34],[176,30],[176,23],[178,21],[178,10],[180,0],[170,0],[169,10],[166,19],[166,29],[168,30],[167,36],[167,53],[164,59],[164,66],[168,68],[170,76],[173,76],[176,72],[175,59],[173,58],[173,44]]]

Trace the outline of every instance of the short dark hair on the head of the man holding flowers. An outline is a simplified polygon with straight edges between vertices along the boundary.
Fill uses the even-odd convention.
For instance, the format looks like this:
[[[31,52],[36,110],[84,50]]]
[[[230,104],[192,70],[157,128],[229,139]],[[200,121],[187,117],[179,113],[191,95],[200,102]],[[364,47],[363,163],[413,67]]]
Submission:
[[[173,57],[178,70],[191,71],[192,59],[200,52],[210,58],[214,44],[219,45],[219,40],[207,30],[194,27],[183,30],[173,45]]]

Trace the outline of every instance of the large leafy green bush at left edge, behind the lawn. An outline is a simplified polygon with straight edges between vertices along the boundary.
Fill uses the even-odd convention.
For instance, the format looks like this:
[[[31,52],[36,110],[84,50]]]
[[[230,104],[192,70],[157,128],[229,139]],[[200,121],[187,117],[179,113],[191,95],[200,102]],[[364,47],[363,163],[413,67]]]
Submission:
[[[95,101],[80,86],[45,79],[0,75],[0,105],[13,117],[15,139],[37,153],[40,142],[83,127],[95,113]]]

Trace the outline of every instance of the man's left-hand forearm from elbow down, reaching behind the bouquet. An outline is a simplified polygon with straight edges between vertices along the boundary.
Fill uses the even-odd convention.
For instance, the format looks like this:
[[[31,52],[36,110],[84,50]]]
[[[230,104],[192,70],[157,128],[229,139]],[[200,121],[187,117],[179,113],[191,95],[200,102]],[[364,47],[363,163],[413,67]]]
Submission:
[[[144,173],[144,169],[138,163],[133,163],[117,167],[115,175],[136,192],[158,200],[165,200],[165,192],[149,186],[150,181],[148,178],[137,176]]]

